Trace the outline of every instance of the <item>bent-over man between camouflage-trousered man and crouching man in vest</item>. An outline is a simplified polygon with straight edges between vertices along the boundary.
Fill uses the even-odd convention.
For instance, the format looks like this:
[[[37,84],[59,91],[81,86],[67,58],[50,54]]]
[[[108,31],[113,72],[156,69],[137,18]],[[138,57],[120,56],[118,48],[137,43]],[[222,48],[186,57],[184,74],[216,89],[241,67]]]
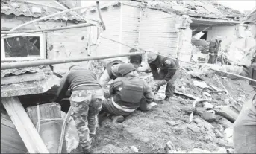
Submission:
[[[112,62],[108,62],[102,76],[99,78],[99,83],[102,86],[107,85],[107,83],[112,79],[115,80],[116,77],[122,77],[122,75],[118,72],[118,68],[122,62],[121,60],[113,60]]]

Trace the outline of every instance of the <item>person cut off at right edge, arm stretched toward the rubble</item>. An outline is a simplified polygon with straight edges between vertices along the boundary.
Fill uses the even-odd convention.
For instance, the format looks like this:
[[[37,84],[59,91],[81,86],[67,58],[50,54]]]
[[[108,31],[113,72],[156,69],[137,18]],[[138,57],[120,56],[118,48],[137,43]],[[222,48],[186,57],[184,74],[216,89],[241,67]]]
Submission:
[[[249,13],[244,23],[249,24],[252,36],[254,36],[256,42],[256,8]],[[217,69],[221,71],[228,71],[233,74],[240,74],[256,80],[256,46],[249,49],[244,60],[247,60],[247,62],[242,62],[241,65],[222,65]],[[201,69],[207,73],[210,72],[210,74],[216,73],[225,77],[231,77],[235,80],[240,79],[239,77],[214,71],[210,69],[212,67],[212,65],[202,65]],[[256,91],[256,82],[250,82],[250,85],[253,86]],[[243,109],[241,110],[240,115],[238,115],[233,126],[235,153],[256,153],[256,94],[251,100],[243,104]]]

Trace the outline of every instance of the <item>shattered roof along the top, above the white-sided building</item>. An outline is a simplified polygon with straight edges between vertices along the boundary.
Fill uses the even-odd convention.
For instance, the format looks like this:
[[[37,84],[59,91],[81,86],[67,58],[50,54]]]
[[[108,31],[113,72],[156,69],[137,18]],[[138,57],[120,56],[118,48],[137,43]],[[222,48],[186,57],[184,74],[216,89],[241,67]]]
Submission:
[[[132,4],[134,7],[147,7],[155,10],[162,10],[168,13],[186,14],[190,17],[205,18],[205,19],[225,19],[240,21],[245,17],[244,13],[238,10],[233,10],[218,4],[216,1],[110,1],[101,4],[101,9],[106,9],[110,6],[119,6],[119,4]],[[96,8],[90,9],[95,11]]]

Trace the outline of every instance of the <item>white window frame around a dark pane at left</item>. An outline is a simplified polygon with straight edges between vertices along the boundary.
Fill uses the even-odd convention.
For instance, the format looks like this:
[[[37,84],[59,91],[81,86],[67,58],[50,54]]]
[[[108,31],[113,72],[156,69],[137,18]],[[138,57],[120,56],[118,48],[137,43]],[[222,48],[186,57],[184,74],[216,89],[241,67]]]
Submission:
[[[2,36],[2,34],[1,34]],[[34,36],[40,38],[40,57],[6,57],[5,46],[4,46],[4,38],[1,39],[1,62],[5,61],[16,61],[16,60],[42,60],[46,59],[46,35],[45,33],[21,33],[17,34],[9,34],[8,36]],[[13,38],[14,38],[13,37]]]

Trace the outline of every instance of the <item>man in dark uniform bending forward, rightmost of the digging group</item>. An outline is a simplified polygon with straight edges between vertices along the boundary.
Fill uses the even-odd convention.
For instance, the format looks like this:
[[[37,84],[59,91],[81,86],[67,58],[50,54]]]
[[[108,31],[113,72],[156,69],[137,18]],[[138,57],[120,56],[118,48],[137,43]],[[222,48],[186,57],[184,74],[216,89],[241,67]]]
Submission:
[[[157,80],[155,85],[152,87],[152,91],[154,94],[156,94],[160,89],[160,86],[166,84],[166,97],[164,100],[159,101],[161,103],[169,103],[169,97],[172,97],[175,92],[174,82],[178,77],[178,71],[176,72],[178,61],[171,60],[167,57],[162,57],[154,52],[149,52],[148,63],[149,67],[151,68],[154,80]],[[158,71],[157,68],[160,68],[160,70]]]

